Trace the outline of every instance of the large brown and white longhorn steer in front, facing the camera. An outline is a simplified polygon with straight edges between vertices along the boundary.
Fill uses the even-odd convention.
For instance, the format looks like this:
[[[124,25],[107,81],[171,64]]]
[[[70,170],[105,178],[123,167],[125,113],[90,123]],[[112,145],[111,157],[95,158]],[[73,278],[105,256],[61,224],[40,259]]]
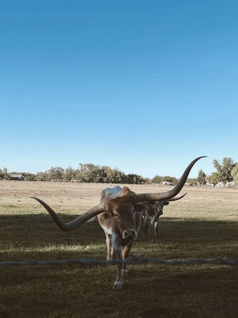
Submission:
[[[98,215],[98,221],[106,234],[107,259],[115,256],[119,260],[126,259],[131,247],[136,241],[137,231],[140,227],[142,210],[145,208],[141,202],[145,201],[167,201],[175,197],[183,188],[193,165],[202,157],[196,158],[184,171],[179,183],[172,190],[164,193],[140,193],[136,194],[128,187],[113,187],[105,189],[101,193],[100,204],[92,207],[69,223],[62,222],[58,215],[44,201],[39,201],[50,213],[55,223],[64,231],[71,231],[82,225],[90,218]],[[110,236],[111,235],[111,236]],[[117,264],[117,276],[113,289],[120,291],[123,287],[122,263]]]

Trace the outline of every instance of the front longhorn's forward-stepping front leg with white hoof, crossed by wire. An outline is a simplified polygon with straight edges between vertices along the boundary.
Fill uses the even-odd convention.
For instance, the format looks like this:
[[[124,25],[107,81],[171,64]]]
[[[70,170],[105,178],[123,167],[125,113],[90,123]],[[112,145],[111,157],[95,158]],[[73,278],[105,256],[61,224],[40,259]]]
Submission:
[[[114,248],[115,258],[117,260],[123,260],[122,254],[122,242],[121,238],[112,233],[112,246]],[[123,288],[123,263],[117,263],[117,275],[116,280],[112,286],[115,291],[120,291]]]

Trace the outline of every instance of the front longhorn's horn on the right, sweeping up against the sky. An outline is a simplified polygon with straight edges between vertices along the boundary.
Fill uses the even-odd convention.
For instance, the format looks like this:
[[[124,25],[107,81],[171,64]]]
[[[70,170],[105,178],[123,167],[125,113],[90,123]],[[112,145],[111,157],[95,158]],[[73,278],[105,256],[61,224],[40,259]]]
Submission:
[[[174,187],[172,190],[167,191],[167,192],[163,192],[163,193],[140,193],[137,194],[137,202],[142,202],[142,201],[161,201],[161,200],[168,200],[171,199],[173,197],[175,197],[183,188],[188,175],[190,173],[190,170],[192,169],[193,165],[201,158],[206,157],[201,156],[196,158],[194,161],[191,162],[190,165],[188,165],[187,169],[184,171],[181,179],[179,180],[179,183],[177,184],[176,187]]]

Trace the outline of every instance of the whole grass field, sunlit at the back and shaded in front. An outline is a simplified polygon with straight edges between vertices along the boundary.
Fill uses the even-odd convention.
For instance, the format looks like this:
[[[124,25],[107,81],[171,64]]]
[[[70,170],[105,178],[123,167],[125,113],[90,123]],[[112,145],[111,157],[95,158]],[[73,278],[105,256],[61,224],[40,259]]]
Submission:
[[[107,185],[108,186],[108,185]],[[111,185],[109,185],[111,186]],[[99,203],[103,184],[0,181],[0,260],[105,259],[105,235],[94,221],[62,232],[30,196],[64,221]],[[130,185],[137,193],[170,187]],[[148,258],[237,259],[238,189],[184,187],[164,208],[159,240],[152,226],[132,254]],[[0,317],[237,317],[237,266],[130,265],[120,293],[116,268],[2,267]]]

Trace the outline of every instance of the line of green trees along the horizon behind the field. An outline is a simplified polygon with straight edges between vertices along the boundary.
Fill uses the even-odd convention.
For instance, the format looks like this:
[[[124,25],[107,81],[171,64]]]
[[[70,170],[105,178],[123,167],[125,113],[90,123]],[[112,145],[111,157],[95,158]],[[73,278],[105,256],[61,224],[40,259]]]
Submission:
[[[203,186],[207,183],[215,186],[222,182],[223,186],[230,181],[238,183],[238,163],[234,163],[230,157],[224,157],[222,163],[213,160],[216,172],[206,175],[202,170],[199,171],[197,178],[188,178],[187,183],[191,186]],[[26,172],[11,172],[7,168],[0,169],[0,179],[9,180],[11,174],[21,174],[26,181],[76,181],[85,183],[121,183],[121,184],[152,184],[168,182],[175,185],[179,180],[171,176],[156,175],[153,179],[144,178],[137,174],[128,174],[117,168],[112,169],[108,166],[98,166],[94,164],[79,164],[77,169],[71,166],[63,169],[61,167],[51,167],[45,172],[37,174]]]

